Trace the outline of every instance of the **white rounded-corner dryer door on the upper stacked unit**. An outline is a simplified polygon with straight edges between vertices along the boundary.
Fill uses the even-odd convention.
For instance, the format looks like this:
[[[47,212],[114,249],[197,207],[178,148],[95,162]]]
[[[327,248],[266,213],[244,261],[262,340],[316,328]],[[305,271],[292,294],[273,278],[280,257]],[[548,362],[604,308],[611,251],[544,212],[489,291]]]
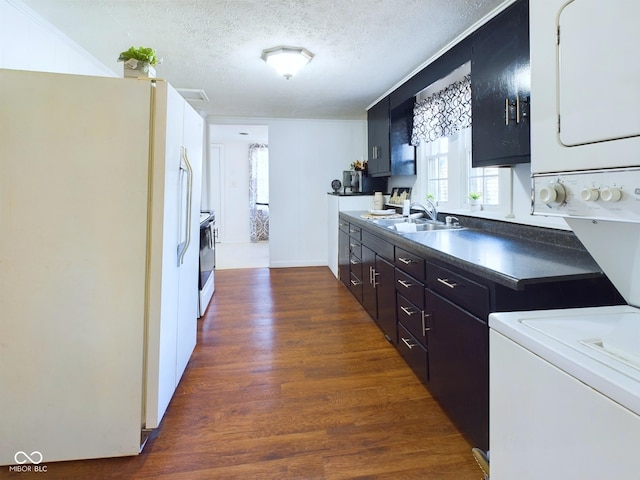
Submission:
[[[635,1],[575,0],[559,17],[560,140],[575,146],[640,135]]]

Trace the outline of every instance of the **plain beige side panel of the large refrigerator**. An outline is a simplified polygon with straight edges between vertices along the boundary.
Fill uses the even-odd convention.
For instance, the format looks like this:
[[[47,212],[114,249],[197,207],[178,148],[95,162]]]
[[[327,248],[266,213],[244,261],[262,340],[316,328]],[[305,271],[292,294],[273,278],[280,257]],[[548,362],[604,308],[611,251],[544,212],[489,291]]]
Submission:
[[[136,454],[149,85],[0,85],[0,464]]]

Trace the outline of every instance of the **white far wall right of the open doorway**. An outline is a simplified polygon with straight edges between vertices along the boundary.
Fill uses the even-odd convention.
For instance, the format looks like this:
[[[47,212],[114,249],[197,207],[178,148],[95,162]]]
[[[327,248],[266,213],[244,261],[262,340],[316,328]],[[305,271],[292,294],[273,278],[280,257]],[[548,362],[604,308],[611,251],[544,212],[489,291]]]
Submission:
[[[207,120],[209,124],[269,128],[270,265],[327,265],[327,192],[331,191],[331,181],[340,179],[351,162],[366,158],[366,121],[217,117]],[[229,178],[228,173],[225,176]]]

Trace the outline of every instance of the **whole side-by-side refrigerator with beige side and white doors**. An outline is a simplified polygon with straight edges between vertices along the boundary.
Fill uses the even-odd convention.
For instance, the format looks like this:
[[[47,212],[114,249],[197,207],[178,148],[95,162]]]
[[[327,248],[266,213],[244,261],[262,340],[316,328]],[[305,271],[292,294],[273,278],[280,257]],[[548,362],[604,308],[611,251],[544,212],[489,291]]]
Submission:
[[[0,85],[0,464],[135,455],[196,342],[203,120],[162,80]]]

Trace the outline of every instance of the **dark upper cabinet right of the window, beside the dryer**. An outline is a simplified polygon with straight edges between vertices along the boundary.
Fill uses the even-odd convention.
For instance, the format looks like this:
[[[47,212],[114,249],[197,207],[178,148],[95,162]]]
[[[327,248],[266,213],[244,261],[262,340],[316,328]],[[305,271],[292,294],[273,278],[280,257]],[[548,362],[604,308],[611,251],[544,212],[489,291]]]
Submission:
[[[476,32],[471,98],[473,166],[530,162],[528,0],[513,4]]]

